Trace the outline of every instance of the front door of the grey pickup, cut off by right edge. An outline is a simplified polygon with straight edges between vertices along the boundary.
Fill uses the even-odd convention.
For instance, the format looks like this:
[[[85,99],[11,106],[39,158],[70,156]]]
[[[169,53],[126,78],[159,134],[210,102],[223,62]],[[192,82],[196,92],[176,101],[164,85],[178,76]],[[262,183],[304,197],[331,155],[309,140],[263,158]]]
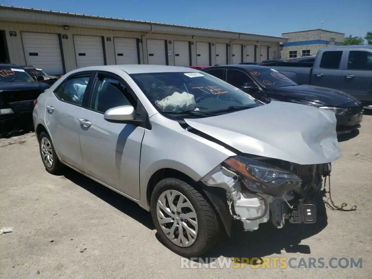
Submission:
[[[343,90],[361,101],[372,102],[372,51],[348,50],[343,65]]]

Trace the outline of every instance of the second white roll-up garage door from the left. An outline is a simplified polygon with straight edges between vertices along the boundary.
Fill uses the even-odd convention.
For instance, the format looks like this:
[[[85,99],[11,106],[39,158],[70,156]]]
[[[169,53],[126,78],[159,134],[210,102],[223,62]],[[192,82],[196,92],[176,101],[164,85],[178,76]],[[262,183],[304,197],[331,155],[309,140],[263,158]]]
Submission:
[[[105,65],[101,36],[74,35],[74,45],[78,68]]]

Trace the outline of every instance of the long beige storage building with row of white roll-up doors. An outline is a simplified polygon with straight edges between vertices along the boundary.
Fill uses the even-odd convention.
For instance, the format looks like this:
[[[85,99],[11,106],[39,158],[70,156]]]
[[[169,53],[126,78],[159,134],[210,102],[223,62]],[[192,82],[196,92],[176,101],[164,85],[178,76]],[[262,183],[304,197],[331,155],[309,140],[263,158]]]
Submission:
[[[222,65],[276,58],[285,38],[0,6],[0,62],[48,74],[113,64]]]

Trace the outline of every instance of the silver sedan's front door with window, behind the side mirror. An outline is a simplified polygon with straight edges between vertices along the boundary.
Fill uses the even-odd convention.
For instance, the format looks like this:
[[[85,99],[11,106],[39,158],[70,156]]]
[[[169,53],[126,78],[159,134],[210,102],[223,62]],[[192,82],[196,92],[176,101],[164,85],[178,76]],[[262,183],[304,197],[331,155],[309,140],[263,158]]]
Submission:
[[[80,145],[87,174],[140,199],[140,155],[145,129],[103,118],[110,108],[122,105],[136,108],[136,104],[131,89],[121,78],[99,73],[80,115]]]

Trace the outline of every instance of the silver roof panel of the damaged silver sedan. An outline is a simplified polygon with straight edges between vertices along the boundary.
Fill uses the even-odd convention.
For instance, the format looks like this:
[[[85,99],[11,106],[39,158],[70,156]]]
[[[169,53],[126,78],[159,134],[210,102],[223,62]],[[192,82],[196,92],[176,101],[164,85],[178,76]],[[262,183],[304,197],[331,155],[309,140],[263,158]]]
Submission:
[[[165,73],[165,72],[199,72],[199,70],[187,67],[165,66],[165,65],[147,65],[147,64],[128,64],[128,65],[106,65],[106,66],[91,66],[83,67],[74,70],[75,73],[80,71],[110,71],[122,70],[127,74],[141,73]]]

